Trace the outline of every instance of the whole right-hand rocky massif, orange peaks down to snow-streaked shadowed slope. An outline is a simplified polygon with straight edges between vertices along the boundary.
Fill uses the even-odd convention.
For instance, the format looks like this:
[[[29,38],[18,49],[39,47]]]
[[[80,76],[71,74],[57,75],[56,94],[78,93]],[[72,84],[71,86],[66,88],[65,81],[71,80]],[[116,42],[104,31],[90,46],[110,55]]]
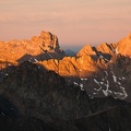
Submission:
[[[131,102],[130,35],[117,44],[86,45],[74,57],[40,61],[48,70],[80,86],[91,97],[114,96]]]

